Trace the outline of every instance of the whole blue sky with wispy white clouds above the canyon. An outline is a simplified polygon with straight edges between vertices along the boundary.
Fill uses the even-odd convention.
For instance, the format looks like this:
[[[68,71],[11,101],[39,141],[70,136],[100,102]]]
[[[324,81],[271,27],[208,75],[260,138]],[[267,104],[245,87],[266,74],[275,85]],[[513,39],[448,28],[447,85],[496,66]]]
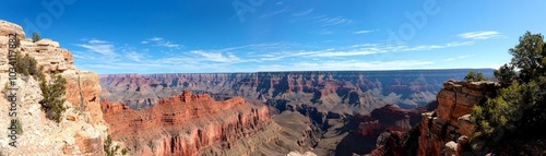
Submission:
[[[498,68],[542,0],[2,0],[0,19],[109,73]]]

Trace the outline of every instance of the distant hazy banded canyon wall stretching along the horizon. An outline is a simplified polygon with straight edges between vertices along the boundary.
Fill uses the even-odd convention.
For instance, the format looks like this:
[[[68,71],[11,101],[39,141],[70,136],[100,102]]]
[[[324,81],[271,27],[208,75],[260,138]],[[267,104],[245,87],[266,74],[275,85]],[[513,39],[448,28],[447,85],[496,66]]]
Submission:
[[[151,107],[183,89],[211,94],[216,99],[241,96],[259,100],[301,100],[334,107],[344,104],[353,112],[368,113],[385,104],[414,108],[436,99],[442,82],[462,80],[470,70],[317,71],[210,74],[100,75],[103,97],[123,101],[132,109]],[[492,70],[477,69],[485,75]]]

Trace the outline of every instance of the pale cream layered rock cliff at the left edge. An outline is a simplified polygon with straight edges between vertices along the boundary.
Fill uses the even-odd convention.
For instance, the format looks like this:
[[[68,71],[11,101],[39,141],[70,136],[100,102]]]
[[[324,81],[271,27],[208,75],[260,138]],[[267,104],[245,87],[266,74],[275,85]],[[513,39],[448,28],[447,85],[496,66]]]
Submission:
[[[8,116],[11,94],[2,87],[0,98],[0,155],[103,155],[103,141],[107,125],[103,120],[99,105],[102,92],[98,75],[90,71],[75,70],[72,55],[60,48],[59,43],[41,39],[33,43],[25,37],[21,26],[0,20],[0,84],[9,81],[8,41],[9,34],[17,34],[20,47],[16,50],[28,55],[44,67],[46,77],[49,73],[60,73],[67,79],[64,107],[61,121],[56,123],[46,118],[38,104],[44,97],[37,80],[33,76],[17,75],[17,119],[23,132],[17,135],[16,145],[10,144],[11,118]]]

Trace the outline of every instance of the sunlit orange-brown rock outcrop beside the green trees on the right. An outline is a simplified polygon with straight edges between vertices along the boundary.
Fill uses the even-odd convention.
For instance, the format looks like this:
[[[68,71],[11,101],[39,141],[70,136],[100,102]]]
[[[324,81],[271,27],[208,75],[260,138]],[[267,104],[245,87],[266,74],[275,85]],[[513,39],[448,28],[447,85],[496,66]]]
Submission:
[[[470,121],[472,107],[485,103],[486,95],[500,87],[492,82],[455,82],[447,81],[438,93],[436,112],[423,113],[418,127],[419,148],[417,155],[437,156],[442,154],[460,155],[461,147],[467,143],[467,136],[475,131]],[[446,148],[444,148],[446,147]]]

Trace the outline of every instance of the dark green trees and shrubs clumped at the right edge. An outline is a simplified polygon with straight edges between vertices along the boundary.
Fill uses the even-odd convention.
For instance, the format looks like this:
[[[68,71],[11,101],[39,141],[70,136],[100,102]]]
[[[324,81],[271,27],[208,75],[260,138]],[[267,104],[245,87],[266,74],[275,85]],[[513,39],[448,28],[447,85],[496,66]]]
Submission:
[[[546,141],[542,129],[546,124],[544,37],[526,32],[509,53],[512,61],[495,71],[502,87],[496,91],[496,96],[473,108],[472,121],[476,125],[473,139],[483,140],[497,151],[511,147],[517,149],[513,154],[520,154],[518,151],[533,151],[526,148],[533,147],[533,142]]]

